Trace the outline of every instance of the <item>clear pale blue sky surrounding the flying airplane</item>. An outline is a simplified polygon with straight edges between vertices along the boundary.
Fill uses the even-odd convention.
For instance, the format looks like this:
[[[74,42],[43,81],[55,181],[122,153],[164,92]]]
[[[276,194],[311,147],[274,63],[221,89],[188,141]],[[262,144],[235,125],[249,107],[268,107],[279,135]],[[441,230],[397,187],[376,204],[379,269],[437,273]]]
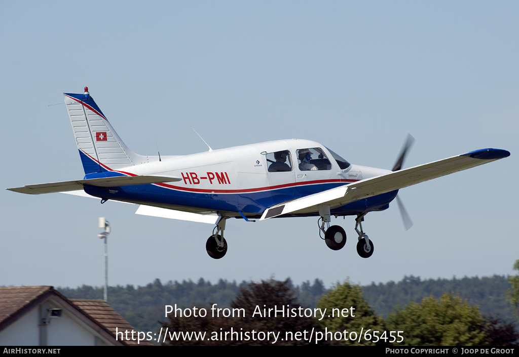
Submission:
[[[511,274],[519,259],[519,4],[459,2],[0,3],[4,187],[83,177],[62,92],[90,94],[136,153],[183,155],[277,139],[315,140],[348,161],[390,169],[496,147],[509,158],[401,190],[363,224],[334,220],[331,251],[316,218],[229,220],[211,259],[206,224],[134,215],[136,207],[63,194],[0,193],[0,284],[155,278],[216,282],[291,277],[326,285]],[[56,105],[53,105],[56,104]]]

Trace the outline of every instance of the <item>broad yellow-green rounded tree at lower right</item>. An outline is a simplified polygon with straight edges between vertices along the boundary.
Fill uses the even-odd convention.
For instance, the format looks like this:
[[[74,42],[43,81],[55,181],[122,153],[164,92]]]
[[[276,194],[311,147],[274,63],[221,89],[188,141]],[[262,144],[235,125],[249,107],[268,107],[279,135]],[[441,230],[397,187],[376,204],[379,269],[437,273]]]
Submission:
[[[481,346],[488,341],[488,323],[479,308],[452,293],[411,302],[390,313],[387,324],[389,330],[404,331],[399,346]]]

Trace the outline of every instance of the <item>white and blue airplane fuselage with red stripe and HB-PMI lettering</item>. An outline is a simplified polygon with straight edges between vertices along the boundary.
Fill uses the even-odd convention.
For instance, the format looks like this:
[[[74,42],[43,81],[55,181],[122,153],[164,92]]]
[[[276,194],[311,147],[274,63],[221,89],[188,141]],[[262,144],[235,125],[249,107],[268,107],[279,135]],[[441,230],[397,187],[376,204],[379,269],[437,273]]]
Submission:
[[[175,156],[117,171],[88,174],[161,175],[181,181],[124,187],[86,186],[96,197],[188,212],[221,212],[259,217],[284,201],[389,172],[350,164],[323,145],[309,140],[279,140]],[[283,161],[283,162],[281,162]],[[332,214],[351,215],[388,208],[398,191],[332,207]],[[305,214],[308,215],[308,214]],[[310,215],[318,215],[315,214]]]

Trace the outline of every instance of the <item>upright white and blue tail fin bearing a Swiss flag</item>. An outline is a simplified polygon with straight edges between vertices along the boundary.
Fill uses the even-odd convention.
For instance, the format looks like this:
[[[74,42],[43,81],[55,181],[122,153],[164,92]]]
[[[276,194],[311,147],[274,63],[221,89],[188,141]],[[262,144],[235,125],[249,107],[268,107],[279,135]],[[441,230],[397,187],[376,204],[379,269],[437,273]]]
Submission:
[[[84,94],[63,93],[85,174],[121,170],[148,162],[119,138],[85,87]]]

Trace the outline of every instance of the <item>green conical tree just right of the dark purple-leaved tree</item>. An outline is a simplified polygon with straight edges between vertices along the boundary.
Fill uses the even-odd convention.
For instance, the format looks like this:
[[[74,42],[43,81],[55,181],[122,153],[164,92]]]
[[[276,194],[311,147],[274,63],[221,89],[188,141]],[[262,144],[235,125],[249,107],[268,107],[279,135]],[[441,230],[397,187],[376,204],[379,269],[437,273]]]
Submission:
[[[360,334],[361,331],[366,332],[368,329],[373,331],[379,331],[382,333],[385,331],[384,320],[382,317],[378,317],[375,311],[368,305],[366,299],[362,296],[362,290],[359,285],[345,281],[342,284],[337,283],[335,287],[330,289],[328,294],[324,295],[317,307],[326,309],[326,317],[320,321],[320,325],[325,331],[343,333],[347,331],[346,338],[342,338],[339,341],[330,341],[332,337],[329,337],[329,342],[336,345],[381,345],[384,344],[384,340],[378,340],[376,343],[373,340],[366,340],[364,336],[356,339],[350,338],[351,332]],[[331,335],[329,335],[331,336]],[[335,336],[335,335],[333,335]],[[353,336],[353,335],[351,335]],[[335,337],[333,337],[335,339]]]

